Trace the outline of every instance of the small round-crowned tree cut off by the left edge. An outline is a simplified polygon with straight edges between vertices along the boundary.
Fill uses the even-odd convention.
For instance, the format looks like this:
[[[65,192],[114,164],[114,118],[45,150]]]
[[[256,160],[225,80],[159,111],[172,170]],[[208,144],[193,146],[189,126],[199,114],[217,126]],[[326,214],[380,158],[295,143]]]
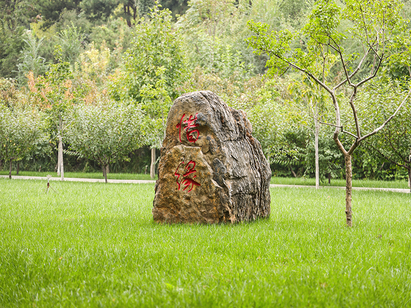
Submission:
[[[0,157],[10,162],[22,160],[44,136],[44,123],[35,110],[0,104]]]

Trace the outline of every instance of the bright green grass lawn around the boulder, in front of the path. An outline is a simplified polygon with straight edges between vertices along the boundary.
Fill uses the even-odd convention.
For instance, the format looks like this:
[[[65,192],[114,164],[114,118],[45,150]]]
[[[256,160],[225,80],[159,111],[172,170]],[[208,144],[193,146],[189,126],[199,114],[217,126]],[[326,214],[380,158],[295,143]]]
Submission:
[[[159,225],[153,184],[0,179],[0,307],[405,307],[411,195],[271,189],[271,217]]]

